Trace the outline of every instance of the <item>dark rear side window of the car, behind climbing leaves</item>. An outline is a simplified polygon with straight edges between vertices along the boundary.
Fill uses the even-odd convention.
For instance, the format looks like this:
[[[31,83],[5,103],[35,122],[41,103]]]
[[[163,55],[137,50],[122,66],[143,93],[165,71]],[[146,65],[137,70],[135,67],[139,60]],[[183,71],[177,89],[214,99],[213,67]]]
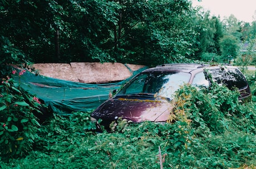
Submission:
[[[247,87],[247,81],[238,69],[210,69],[209,73],[216,83],[224,84],[229,89],[242,89]]]

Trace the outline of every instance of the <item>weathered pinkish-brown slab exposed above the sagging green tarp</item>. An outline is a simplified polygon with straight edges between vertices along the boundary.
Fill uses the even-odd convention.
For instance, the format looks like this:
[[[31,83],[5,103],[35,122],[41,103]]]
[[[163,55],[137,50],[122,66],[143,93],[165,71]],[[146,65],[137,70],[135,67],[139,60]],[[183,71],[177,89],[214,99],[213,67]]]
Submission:
[[[38,73],[51,78],[80,83],[106,83],[129,78],[133,71],[144,65],[122,63],[37,63]]]

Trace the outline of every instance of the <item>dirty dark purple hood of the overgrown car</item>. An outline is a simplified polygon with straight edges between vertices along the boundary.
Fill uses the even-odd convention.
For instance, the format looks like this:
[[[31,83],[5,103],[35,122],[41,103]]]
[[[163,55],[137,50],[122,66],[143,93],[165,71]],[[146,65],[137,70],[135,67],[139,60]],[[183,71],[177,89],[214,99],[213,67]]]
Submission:
[[[166,121],[173,105],[165,99],[113,98],[105,101],[91,116],[95,119],[115,121],[119,117],[134,122]]]

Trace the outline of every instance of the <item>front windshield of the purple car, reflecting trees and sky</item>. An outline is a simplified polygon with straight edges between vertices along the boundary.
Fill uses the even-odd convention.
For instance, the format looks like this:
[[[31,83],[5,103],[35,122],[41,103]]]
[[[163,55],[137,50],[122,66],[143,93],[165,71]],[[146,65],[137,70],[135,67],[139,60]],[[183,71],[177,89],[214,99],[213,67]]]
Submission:
[[[154,98],[173,98],[173,94],[190,79],[189,73],[153,71],[137,75],[116,96],[140,95]]]

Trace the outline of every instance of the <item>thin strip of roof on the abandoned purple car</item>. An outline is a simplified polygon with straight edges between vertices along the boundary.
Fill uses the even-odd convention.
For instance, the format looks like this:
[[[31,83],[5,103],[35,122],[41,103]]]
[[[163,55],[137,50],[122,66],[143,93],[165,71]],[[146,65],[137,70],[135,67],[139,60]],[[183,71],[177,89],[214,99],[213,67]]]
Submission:
[[[174,63],[174,64],[163,64],[157,65],[155,68],[150,68],[144,70],[147,71],[183,71],[186,73],[190,73],[194,70],[201,70],[201,69],[211,69],[211,68],[223,68],[223,66],[227,68],[235,68],[230,64],[196,64],[196,63]]]

